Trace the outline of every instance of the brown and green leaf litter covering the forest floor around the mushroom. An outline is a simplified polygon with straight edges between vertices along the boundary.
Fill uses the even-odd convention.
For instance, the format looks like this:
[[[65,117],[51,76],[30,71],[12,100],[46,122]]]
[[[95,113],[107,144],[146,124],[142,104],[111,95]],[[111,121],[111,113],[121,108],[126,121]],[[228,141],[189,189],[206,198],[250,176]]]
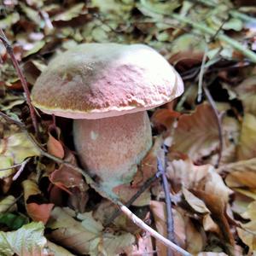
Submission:
[[[182,75],[185,93],[153,111],[154,147],[131,186],[115,192],[126,189],[128,201],[157,172],[164,144],[175,242],[195,255],[256,252],[255,59],[243,51],[255,48],[253,1],[12,0],[0,8],[0,27],[30,88],[57,52],[76,44],[141,43],[159,50]],[[205,95],[196,101],[206,45],[203,85],[220,115],[222,152],[214,106]],[[0,66],[1,112],[31,132],[22,86],[2,43]],[[61,119],[56,124],[40,113],[39,146],[79,165],[71,125]],[[26,132],[2,117],[0,136],[1,255],[167,255],[165,246],[123,215],[105,226],[113,203],[72,168],[44,158]],[[139,199],[133,212],[166,236],[160,183]]]

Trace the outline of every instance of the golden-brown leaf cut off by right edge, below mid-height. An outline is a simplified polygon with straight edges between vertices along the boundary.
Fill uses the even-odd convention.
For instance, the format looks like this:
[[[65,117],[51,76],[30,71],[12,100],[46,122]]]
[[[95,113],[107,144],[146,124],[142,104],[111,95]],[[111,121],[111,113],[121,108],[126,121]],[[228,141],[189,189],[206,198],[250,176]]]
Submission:
[[[219,171],[228,172],[225,182],[230,188],[256,189],[256,158],[221,166]]]

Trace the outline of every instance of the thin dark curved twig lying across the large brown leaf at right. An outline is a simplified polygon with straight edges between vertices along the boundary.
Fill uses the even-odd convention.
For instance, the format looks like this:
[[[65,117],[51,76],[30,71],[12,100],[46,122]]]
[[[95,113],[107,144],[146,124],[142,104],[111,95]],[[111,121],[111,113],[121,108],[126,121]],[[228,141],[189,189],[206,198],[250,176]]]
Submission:
[[[219,148],[218,148],[218,160],[215,164],[215,167],[218,168],[221,157],[222,157],[222,151],[223,151],[223,130],[222,130],[222,125],[221,125],[221,117],[220,114],[218,113],[218,109],[216,107],[215,102],[212,99],[212,96],[209,92],[209,90],[207,89],[206,86],[203,86],[204,92],[207,96],[207,100],[210,103],[213,113],[215,115],[215,118],[217,120],[217,125],[218,125],[218,139],[219,139]]]

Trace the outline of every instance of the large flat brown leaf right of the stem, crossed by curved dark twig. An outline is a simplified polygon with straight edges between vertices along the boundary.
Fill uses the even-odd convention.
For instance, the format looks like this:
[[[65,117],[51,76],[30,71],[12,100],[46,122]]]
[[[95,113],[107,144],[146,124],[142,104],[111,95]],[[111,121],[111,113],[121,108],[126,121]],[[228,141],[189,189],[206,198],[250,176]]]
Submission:
[[[222,163],[236,157],[236,144],[239,136],[239,123],[236,119],[224,116]],[[198,105],[195,112],[183,114],[174,131],[171,151],[189,155],[195,163],[216,163],[219,137],[217,119],[212,107],[207,103]]]

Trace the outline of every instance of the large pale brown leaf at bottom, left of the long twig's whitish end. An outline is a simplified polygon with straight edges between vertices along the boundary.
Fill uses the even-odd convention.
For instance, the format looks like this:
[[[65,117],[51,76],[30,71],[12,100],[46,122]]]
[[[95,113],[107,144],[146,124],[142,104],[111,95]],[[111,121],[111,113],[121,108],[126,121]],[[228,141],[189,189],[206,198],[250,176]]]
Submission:
[[[122,251],[122,247],[131,246],[135,241],[134,236],[129,233],[115,236],[107,231],[102,232],[102,224],[92,218],[91,212],[79,214],[78,218],[82,222],[74,220],[60,207],[55,207],[48,224],[53,229],[51,237],[76,253],[115,255]]]

